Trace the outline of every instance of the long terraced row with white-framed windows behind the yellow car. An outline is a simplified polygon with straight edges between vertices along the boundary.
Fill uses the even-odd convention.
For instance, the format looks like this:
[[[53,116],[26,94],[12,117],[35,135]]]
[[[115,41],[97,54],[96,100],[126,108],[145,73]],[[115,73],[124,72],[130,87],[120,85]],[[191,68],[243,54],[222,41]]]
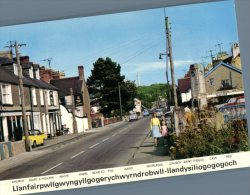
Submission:
[[[28,129],[55,136],[61,119],[58,90],[40,80],[39,65],[21,57]],[[0,142],[22,139],[22,108],[15,59],[0,57]]]

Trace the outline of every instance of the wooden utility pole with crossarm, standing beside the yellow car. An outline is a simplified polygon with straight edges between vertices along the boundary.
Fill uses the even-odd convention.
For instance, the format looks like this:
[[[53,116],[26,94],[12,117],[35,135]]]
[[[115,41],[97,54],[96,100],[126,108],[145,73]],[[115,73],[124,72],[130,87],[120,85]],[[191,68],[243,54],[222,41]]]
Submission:
[[[27,127],[27,118],[26,118],[26,111],[25,111],[25,99],[24,99],[24,88],[23,88],[23,73],[22,73],[22,66],[20,63],[20,55],[18,49],[22,46],[26,46],[26,44],[18,44],[15,41],[14,45],[16,51],[16,61],[17,61],[17,68],[18,68],[18,83],[20,87],[20,96],[21,96],[21,105],[22,105],[22,119],[23,119],[23,130],[25,136],[25,148],[27,152],[30,152],[30,140],[29,140],[29,132]]]

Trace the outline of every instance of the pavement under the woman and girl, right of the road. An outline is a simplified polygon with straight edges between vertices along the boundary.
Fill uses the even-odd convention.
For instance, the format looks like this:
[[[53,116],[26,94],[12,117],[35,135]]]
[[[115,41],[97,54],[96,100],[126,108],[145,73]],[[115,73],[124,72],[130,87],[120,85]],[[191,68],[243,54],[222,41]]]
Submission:
[[[141,144],[138,151],[134,154],[133,158],[129,161],[129,165],[169,160],[171,160],[171,158],[167,155],[167,148],[164,146],[163,140],[161,139],[159,145],[155,147],[154,139],[149,134]]]

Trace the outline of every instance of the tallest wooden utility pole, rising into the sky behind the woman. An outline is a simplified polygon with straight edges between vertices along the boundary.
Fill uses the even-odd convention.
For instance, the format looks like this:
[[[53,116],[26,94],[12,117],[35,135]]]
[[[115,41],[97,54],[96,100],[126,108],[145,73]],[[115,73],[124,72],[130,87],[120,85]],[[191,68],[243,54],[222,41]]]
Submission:
[[[171,79],[172,79],[172,90],[174,96],[174,107],[178,107],[177,102],[177,93],[176,93],[176,85],[175,85],[175,73],[174,73],[174,61],[173,61],[173,53],[172,53],[172,43],[171,43],[171,32],[169,28],[169,20],[168,17],[165,17],[165,24],[166,24],[166,33],[167,33],[167,40],[168,40],[168,52],[167,56],[169,57],[170,62],[170,71],[171,71]]]

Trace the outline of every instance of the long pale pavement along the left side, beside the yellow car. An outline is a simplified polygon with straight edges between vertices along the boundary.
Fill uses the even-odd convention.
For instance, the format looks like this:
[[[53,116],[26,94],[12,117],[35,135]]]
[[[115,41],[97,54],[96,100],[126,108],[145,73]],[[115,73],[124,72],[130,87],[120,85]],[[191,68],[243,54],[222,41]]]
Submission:
[[[31,152],[21,153],[21,154],[14,156],[14,157],[9,158],[9,159],[0,160],[0,174],[1,174],[1,172],[5,171],[5,170],[14,168],[14,167],[19,166],[23,163],[28,163],[31,160],[34,160],[36,158],[39,158],[40,156],[48,154],[48,150],[46,150],[46,148],[49,148],[51,146],[55,146],[55,145],[60,144],[60,143],[64,143],[66,141],[70,141],[70,140],[74,140],[74,139],[81,139],[82,137],[93,135],[94,133],[103,131],[105,129],[116,127],[122,123],[124,123],[124,121],[113,123],[113,124],[110,124],[110,125],[107,125],[104,127],[94,128],[94,129],[87,130],[85,132],[78,133],[78,134],[61,135],[61,136],[53,137],[51,139],[47,139],[47,140],[45,140],[44,146],[39,146],[37,148],[34,148],[34,149],[32,149]]]

